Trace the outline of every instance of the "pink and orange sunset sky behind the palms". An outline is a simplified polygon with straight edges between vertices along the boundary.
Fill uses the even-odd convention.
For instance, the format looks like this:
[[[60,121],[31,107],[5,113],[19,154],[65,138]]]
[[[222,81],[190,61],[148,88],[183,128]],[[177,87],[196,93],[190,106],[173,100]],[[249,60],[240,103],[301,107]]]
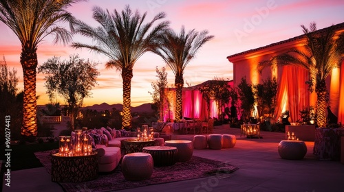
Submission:
[[[318,29],[332,24],[344,22],[343,0],[259,0],[259,1],[172,1],[172,0],[144,0],[144,1],[120,1],[120,0],[89,0],[80,2],[70,8],[70,12],[77,19],[85,21],[94,27],[98,23],[92,19],[94,5],[108,9],[121,11],[129,4],[132,10],[138,10],[141,14],[147,12],[147,19],[151,21],[158,12],[165,12],[166,18],[171,22],[171,27],[180,32],[182,25],[187,31],[196,29],[198,32],[206,29],[215,38],[205,43],[197,52],[196,58],[186,67],[184,82],[196,85],[214,77],[233,79],[233,66],[227,56],[263,47],[271,43],[286,40],[302,34],[300,25],[308,26],[316,22]],[[3,23],[0,23],[0,54],[5,56],[10,69],[17,69],[19,76],[19,89],[23,89],[23,73],[19,62],[21,44],[17,36]],[[68,59],[69,55],[78,53],[80,58],[98,62],[98,85],[92,89],[92,97],[84,100],[84,106],[92,104],[122,104],[122,78],[116,69],[105,69],[108,58],[103,55],[90,52],[88,49],[72,49],[61,45],[52,44],[52,36],[46,38],[38,48],[39,64],[53,56]],[[82,36],[74,36],[78,42],[89,42],[90,39]],[[2,58],[1,58],[2,60]],[[148,91],[153,91],[151,83],[158,80],[155,77],[155,67],[158,69],[166,64],[159,56],[153,53],[145,53],[133,68],[131,82],[131,106],[149,103],[152,101]],[[173,86],[174,75],[171,69],[166,68],[169,86]],[[186,84],[184,84],[186,86]],[[37,104],[49,103],[45,94],[43,75],[37,75],[37,95],[40,99]],[[64,104],[63,100],[60,100]]]

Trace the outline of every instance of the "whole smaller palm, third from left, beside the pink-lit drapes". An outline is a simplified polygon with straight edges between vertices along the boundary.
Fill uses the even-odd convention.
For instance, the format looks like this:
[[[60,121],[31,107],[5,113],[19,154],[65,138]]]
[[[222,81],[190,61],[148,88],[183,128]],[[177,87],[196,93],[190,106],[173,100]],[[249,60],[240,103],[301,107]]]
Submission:
[[[197,50],[214,36],[208,36],[208,31],[196,32],[192,29],[187,34],[184,26],[180,34],[169,30],[160,37],[160,47],[153,50],[172,69],[175,75],[176,110],[175,121],[182,117],[182,88],[184,86],[184,69],[195,58]]]

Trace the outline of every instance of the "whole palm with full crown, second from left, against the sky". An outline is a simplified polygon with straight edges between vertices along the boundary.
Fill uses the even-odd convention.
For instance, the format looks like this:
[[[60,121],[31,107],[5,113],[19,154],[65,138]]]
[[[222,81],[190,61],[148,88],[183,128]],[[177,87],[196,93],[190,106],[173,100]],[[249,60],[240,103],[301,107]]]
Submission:
[[[122,128],[131,128],[131,78],[133,77],[133,66],[135,62],[147,51],[154,49],[157,45],[157,36],[164,33],[169,26],[168,21],[158,23],[155,21],[163,19],[165,14],[160,12],[147,24],[144,24],[147,12],[141,16],[138,11],[133,13],[126,5],[125,10],[118,12],[114,10],[102,10],[93,8],[93,18],[100,23],[100,27],[91,27],[82,21],[76,22],[75,32],[92,38],[96,44],[73,43],[72,47],[87,48],[97,53],[103,53],[110,60],[107,68],[116,68],[121,71],[123,84],[123,117]]]

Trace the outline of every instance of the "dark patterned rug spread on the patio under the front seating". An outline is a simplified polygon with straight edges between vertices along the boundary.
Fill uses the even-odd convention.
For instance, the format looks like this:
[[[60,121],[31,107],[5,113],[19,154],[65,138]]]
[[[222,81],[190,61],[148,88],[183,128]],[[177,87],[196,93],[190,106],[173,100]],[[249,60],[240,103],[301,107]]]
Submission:
[[[35,156],[51,173],[51,154],[52,151],[36,152]],[[151,184],[162,184],[166,182],[176,182],[181,180],[191,180],[195,178],[204,178],[208,176],[216,176],[217,178],[228,178],[230,173],[236,171],[237,167],[228,163],[222,163],[217,160],[210,160],[193,156],[187,162],[178,162],[175,165],[167,167],[154,167],[153,174],[149,180],[131,182],[125,180],[120,164],[114,171],[110,173],[99,173],[96,180],[87,182],[61,182],[61,187],[67,192],[76,191],[116,191],[122,189],[131,189],[136,187],[144,187]]]

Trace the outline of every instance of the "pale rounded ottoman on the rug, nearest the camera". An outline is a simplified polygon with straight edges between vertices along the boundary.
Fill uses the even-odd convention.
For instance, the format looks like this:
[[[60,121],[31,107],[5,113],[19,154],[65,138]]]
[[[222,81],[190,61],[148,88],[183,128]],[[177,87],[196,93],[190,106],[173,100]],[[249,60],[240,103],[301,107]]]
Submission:
[[[153,173],[153,158],[147,153],[126,154],[122,158],[122,173],[126,180],[147,180]]]

